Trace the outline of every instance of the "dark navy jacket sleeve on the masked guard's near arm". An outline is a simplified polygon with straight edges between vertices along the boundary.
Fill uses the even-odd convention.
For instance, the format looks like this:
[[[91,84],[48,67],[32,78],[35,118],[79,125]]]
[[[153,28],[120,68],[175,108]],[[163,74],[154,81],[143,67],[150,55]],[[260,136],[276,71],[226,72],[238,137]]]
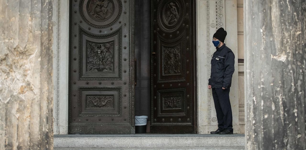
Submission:
[[[230,83],[232,82],[232,77],[233,77],[233,73],[235,71],[235,56],[233,52],[228,52],[225,56],[225,63],[224,63],[224,67],[225,67],[225,71],[224,71],[224,75],[223,75],[223,83],[222,83],[222,87],[227,88]]]

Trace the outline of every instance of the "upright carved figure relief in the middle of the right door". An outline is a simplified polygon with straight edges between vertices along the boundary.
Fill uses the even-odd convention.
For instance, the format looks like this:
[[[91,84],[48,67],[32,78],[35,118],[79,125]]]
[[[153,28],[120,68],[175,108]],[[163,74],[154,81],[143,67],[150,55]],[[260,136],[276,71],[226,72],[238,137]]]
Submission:
[[[181,47],[162,47],[162,74],[178,75],[181,73]]]

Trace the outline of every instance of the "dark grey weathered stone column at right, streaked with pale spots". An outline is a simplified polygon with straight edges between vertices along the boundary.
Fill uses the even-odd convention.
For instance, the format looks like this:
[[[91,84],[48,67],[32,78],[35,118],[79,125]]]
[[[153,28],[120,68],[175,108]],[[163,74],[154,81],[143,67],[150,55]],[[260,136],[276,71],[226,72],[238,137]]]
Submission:
[[[244,0],[247,149],[306,149],[306,1]]]

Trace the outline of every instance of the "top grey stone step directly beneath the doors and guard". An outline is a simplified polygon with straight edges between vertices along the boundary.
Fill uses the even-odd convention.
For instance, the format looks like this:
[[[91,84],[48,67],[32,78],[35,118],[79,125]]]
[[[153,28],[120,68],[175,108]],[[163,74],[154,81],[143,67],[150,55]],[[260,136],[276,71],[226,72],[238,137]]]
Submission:
[[[54,135],[54,148],[244,149],[244,135],[130,134]]]

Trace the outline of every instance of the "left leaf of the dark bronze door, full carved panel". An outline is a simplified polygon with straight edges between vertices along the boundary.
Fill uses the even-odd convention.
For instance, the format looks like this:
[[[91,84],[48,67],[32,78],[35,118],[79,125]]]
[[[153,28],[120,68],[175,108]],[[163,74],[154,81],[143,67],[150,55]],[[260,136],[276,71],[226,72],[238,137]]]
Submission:
[[[132,134],[133,0],[70,0],[69,134]]]

